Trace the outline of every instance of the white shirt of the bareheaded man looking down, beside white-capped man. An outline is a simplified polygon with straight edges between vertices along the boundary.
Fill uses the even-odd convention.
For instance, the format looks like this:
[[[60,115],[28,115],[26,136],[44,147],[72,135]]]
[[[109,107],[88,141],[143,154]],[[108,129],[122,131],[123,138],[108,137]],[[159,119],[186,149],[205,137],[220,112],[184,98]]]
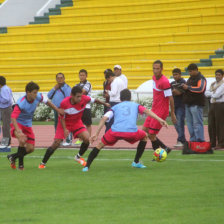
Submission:
[[[125,84],[120,77],[115,77],[115,79],[111,82],[111,91],[108,91],[110,95],[110,102],[121,102],[120,100],[120,92],[125,89]]]

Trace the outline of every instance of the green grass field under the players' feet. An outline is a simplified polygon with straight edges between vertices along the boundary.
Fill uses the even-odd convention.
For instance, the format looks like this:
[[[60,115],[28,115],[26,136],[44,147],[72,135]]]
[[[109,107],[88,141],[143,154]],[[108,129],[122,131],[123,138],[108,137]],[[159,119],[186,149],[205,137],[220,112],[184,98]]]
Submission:
[[[173,151],[163,163],[146,151],[146,169],[131,168],[135,151],[102,151],[88,173],[63,149],[39,170],[44,152],[27,156],[24,171],[0,154],[1,224],[224,223],[223,151]]]

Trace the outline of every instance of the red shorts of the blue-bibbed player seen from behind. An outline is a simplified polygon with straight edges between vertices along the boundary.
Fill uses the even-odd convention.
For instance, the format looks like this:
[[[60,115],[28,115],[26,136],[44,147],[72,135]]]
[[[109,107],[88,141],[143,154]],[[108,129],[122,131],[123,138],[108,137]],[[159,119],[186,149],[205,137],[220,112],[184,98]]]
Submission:
[[[137,132],[113,132],[109,129],[101,141],[104,145],[114,145],[118,140],[125,140],[131,144],[134,144],[137,141],[142,140],[146,136],[146,133],[142,130]]]

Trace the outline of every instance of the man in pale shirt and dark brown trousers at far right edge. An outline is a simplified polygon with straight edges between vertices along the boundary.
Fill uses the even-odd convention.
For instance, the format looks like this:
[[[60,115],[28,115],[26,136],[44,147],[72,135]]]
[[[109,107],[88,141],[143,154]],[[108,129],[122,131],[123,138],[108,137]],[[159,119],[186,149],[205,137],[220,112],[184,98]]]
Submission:
[[[218,69],[215,72],[216,81],[205,92],[210,97],[208,113],[208,132],[211,146],[215,149],[224,148],[224,72]],[[218,141],[218,145],[216,142]]]

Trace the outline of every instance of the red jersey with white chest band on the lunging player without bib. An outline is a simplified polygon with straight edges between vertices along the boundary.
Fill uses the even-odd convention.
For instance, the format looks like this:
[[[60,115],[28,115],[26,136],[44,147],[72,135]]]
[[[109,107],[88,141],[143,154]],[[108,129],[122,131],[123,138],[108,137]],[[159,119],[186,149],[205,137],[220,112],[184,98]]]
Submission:
[[[60,108],[64,109],[64,118],[66,124],[75,124],[82,118],[86,104],[92,100],[91,97],[82,95],[81,101],[76,104],[71,104],[71,96],[66,97],[61,101]]]

